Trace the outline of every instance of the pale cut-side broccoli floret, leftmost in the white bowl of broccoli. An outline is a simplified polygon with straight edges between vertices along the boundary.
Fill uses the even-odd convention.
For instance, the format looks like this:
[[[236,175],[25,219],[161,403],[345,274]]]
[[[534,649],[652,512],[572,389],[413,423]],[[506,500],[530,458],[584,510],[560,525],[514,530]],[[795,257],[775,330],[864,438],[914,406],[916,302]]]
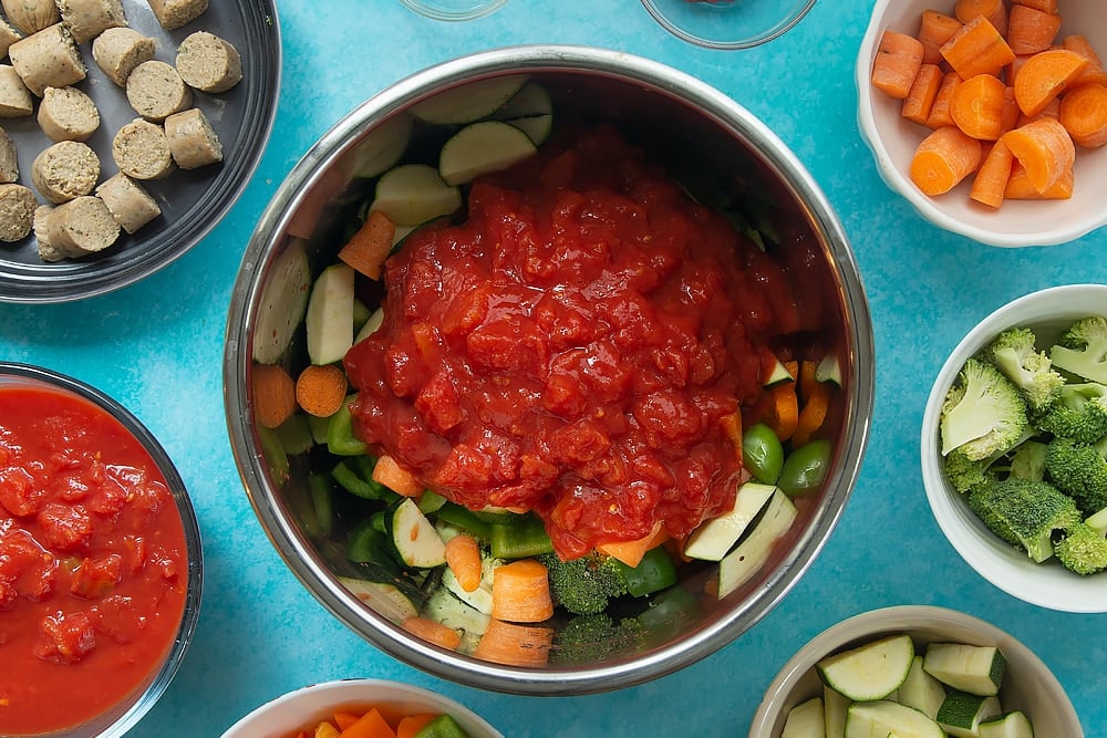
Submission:
[[[1026,402],[1000,370],[970,358],[945,395],[940,424],[943,456],[963,448],[965,458],[979,461],[1025,439]]]

